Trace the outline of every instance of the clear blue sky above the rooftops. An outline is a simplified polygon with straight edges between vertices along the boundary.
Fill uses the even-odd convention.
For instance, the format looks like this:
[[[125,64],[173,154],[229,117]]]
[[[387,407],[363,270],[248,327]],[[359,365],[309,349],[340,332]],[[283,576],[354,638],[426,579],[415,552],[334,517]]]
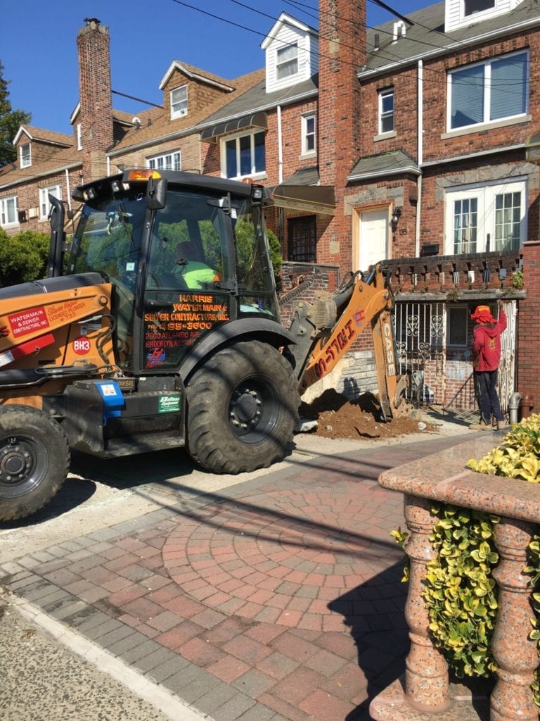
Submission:
[[[386,2],[401,14],[432,4]],[[9,100],[12,109],[32,113],[32,125],[71,133],[69,118],[78,102],[76,38],[85,17],[109,26],[112,89],[161,104],[158,86],[173,60],[233,79],[264,66],[261,42],[281,12],[317,27],[317,8],[317,0],[4,2],[0,61],[10,81]],[[371,0],[367,13],[368,25],[392,19]],[[134,113],[149,107],[118,95],[113,105]]]

